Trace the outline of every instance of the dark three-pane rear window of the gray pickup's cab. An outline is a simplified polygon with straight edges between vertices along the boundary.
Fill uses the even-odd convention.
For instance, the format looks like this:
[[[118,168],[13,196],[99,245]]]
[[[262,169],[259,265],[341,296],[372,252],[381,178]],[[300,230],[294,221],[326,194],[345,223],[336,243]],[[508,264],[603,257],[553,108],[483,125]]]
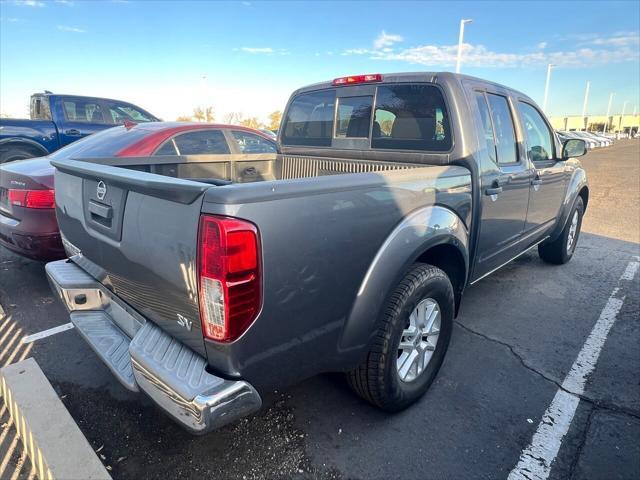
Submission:
[[[336,101],[333,89],[303,93],[283,125],[283,145],[330,147],[336,138],[364,138],[374,149],[446,152],[453,144],[442,93],[427,84],[380,85],[375,102],[372,96]]]

